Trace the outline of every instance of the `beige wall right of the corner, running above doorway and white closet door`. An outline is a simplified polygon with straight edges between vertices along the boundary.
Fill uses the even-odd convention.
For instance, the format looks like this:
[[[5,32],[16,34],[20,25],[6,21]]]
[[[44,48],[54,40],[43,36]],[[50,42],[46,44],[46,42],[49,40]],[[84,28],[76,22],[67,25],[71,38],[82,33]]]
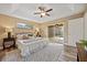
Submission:
[[[50,25],[55,25],[57,23],[63,23],[64,25],[67,25],[66,23],[68,22],[68,20],[83,18],[83,15],[84,15],[84,12],[79,12],[79,13],[76,13],[76,14],[73,14],[73,15],[69,15],[69,17],[65,17],[65,18],[61,18],[61,19],[56,19],[56,20],[53,20],[53,21],[47,21],[47,22],[41,23],[40,29],[43,31],[42,35],[44,37],[48,37],[48,26]],[[67,34],[67,33],[65,32],[65,34]]]

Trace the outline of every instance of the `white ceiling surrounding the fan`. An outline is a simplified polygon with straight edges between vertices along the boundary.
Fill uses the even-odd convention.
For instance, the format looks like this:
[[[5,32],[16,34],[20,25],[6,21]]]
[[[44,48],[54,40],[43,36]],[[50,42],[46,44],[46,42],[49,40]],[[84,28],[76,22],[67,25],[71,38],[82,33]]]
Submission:
[[[51,17],[41,18],[39,14],[34,14],[40,6],[53,9],[53,11],[50,12]],[[39,23],[79,13],[85,9],[85,3],[0,3],[1,14],[35,21]]]

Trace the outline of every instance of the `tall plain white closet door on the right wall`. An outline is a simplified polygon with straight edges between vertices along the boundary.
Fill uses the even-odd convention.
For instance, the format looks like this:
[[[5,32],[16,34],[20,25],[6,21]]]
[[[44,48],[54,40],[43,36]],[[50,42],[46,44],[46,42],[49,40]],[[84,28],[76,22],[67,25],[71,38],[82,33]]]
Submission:
[[[68,21],[68,44],[76,46],[76,42],[84,37],[83,18]]]

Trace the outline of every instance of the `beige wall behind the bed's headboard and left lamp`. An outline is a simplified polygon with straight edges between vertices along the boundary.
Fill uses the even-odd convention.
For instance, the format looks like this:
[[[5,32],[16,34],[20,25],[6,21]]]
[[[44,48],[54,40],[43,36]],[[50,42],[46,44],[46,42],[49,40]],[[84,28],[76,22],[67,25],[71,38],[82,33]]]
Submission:
[[[17,29],[17,23],[19,23],[19,22],[23,22],[23,23],[26,23],[26,24],[32,24],[32,25],[34,25],[34,28],[39,28],[39,25],[40,25],[39,23],[33,22],[33,21],[26,21],[26,20],[22,20],[22,19],[9,17],[9,15],[0,14],[0,26],[6,28],[4,30]],[[3,31],[3,29],[1,31]],[[19,32],[19,30],[18,30],[18,32]],[[13,32],[12,32],[12,34],[13,34]],[[3,35],[3,37],[7,36],[7,32],[4,32],[4,34],[0,34],[0,36],[1,35]]]

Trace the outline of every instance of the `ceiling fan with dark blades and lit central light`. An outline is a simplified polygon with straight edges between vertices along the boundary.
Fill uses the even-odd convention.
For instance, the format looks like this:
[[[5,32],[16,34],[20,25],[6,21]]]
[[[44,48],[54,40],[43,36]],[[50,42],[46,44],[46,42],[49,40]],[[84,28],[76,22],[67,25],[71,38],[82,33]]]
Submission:
[[[39,9],[40,11],[39,11],[39,12],[34,12],[34,14],[40,14],[41,18],[43,18],[43,17],[45,17],[45,15],[50,17],[50,13],[48,13],[48,12],[51,12],[51,11],[53,10],[53,9],[46,10],[45,7],[39,7],[37,9]]]

